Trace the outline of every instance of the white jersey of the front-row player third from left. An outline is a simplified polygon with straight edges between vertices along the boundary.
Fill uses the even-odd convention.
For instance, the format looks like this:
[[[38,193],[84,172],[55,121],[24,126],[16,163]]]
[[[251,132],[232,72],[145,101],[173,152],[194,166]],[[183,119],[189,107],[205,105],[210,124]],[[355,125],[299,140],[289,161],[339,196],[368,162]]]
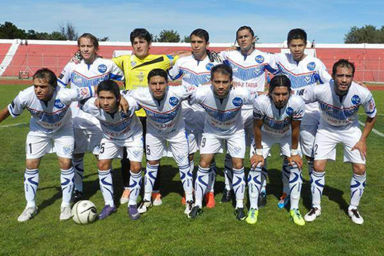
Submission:
[[[182,101],[188,98],[195,86],[168,86],[163,100],[155,100],[148,87],[129,92],[147,114],[147,133],[170,135],[185,129],[181,112]]]

